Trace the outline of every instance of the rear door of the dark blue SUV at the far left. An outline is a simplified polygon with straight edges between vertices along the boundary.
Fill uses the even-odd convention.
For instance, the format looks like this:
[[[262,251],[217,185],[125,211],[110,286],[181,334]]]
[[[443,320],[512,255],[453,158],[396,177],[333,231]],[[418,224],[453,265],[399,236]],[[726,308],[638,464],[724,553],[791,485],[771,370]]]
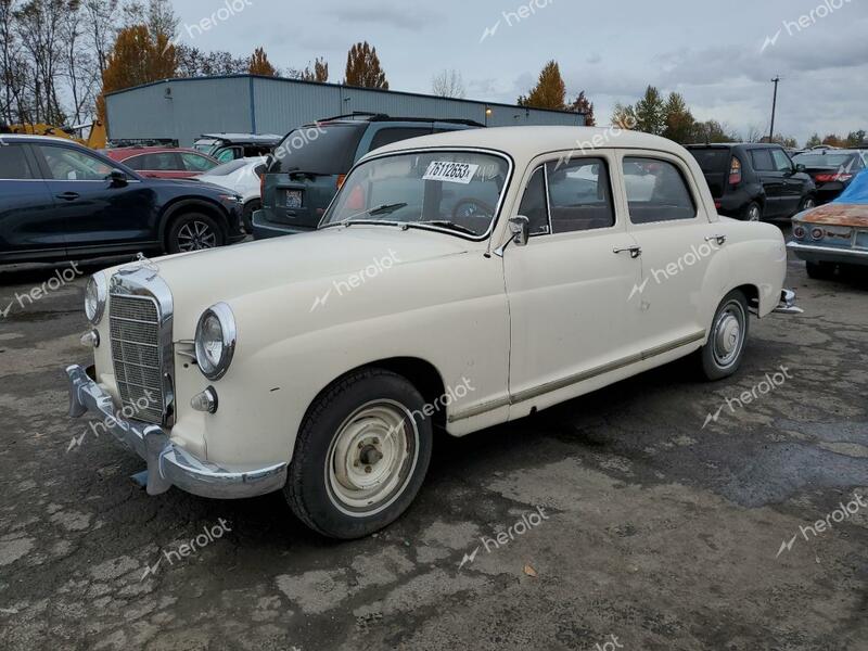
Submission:
[[[0,259],[63,257],[64,235],[30,145],[0,139]]]

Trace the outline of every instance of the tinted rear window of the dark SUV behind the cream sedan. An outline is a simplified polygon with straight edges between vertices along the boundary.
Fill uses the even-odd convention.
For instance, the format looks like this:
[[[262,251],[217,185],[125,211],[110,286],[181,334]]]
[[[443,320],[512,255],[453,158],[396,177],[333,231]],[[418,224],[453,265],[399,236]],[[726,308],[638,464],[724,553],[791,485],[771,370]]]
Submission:
[[[356,162],[356,151],[367,128],[367,123],[359,123],[295,129],[275,150],[275,162],[268,171],[346,174]]]

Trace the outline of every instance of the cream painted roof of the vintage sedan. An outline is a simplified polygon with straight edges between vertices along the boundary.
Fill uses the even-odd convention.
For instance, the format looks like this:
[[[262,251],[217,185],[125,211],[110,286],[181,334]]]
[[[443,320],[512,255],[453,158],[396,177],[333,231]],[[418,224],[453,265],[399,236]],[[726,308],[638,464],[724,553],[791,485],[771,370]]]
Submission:
[[[422,136],[387,144],[375,154],[429,146],[478,148],[506,152],[514,157],[533,158],[546,152],[595,149],[649,149],[678,154],[679,144],[660,136],[628,131],[617,127],[494,127],[462,129]],[[370,154],[369,154],[370,155]]]

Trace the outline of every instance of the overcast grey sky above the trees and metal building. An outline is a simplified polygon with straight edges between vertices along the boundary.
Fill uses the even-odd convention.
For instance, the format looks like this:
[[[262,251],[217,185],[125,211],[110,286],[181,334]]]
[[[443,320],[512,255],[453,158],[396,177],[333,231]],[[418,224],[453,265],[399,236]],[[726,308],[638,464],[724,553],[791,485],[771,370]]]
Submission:
[[[741,133],[767,131],[769,80],[780,75],[776,131],[802,142],[868,129],[868,0],[246,2],[191,38],[184,27],[224,0],[176,0],[180,40],[238,55],[263,46],[279,67],[324,56],[332,81],[347,49],[368,40],[393,90],[430,92],[435,74],[456,68],[469,99],[510,103],[554,59],[569,94],[584,89],[593,101],[598,124],[651,84]]]

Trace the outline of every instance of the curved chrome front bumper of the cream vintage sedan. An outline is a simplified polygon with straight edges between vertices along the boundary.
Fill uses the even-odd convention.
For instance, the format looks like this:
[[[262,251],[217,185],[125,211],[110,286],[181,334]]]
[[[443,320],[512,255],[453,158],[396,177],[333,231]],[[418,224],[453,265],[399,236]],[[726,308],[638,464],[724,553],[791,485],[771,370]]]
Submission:
[[[220,468],[195,458],[175,445],[157,425],[118,418],[114,400],[78,365],[66,368],[69,381],[69,416],[93,412],[105,429],[148,463],[148,494],[159,495],[171,486],[202,497],[239,499],[280,490],[286,483],[288,464],[254,470]]]

